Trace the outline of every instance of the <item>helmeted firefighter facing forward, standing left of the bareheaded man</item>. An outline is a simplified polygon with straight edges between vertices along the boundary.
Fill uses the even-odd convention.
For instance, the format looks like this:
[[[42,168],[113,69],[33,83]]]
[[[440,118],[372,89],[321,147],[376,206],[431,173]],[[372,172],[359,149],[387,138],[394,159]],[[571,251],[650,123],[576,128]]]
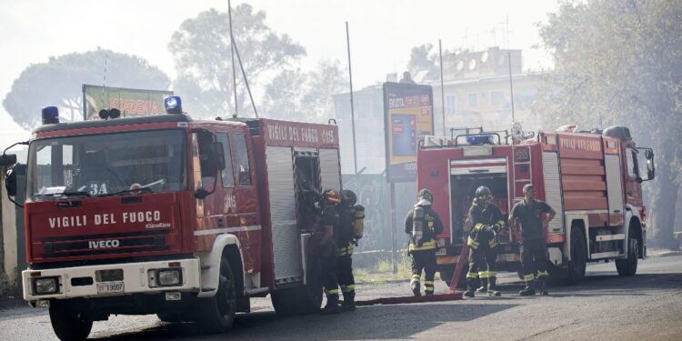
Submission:
[[[487,293],[488,296],[500,296],[496,287],[495,271],[496,246],[499,244],[497,234],[505,226],[505,220],[499,208],[490,201],[493,199],[490,189],[480,186],[476,189],[476,198],[469,208],[468,221],[469,236],[466,245],[469,246],[469,272],[466,274],[467,297],[474,297],[476,278],[481,286],[477,293]]]

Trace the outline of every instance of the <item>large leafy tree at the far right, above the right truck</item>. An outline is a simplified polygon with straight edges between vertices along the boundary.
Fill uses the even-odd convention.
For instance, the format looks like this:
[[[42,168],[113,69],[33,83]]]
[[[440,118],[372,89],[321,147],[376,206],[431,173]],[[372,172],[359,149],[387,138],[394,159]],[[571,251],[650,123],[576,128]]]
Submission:
[[[540,26],[556,70],[541,93],[547,118],[584,127],[629,125],[657,151],[649,187],[654,238],[673,239],[682,184],[682,3],[675,0],[566,2]]]

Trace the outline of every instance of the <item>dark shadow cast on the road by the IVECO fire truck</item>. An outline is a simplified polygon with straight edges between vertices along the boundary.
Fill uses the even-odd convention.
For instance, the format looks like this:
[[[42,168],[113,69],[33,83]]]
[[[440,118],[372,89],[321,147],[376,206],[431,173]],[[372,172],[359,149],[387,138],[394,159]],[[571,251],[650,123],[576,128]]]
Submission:
[[[100,340],[196,339],[361,340],[406,338],[448,322],[469,321],[514,307],[512,304],[416,304],[363,306],[336,316],[278,317],[274,312],[237,316],[235,328],[224,335],[201,335],[195,324],[161,324],[135,333]],[[367,323],[372,321],[372,323]],[[353,332],[349,332],[350,329]]]

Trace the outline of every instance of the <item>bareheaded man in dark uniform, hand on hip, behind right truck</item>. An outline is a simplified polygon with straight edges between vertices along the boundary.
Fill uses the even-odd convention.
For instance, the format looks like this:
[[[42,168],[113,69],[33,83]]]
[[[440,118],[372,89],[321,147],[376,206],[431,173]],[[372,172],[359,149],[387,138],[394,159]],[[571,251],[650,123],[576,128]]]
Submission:
[[[534,282],[537,279],[540,295],[546,296],[549,294],[547,292],[547,245],[542,228],[557,213],[544,202],[536,200],[535,186],[528,184],[524,186],[523,192],[524,199],[512,208],[511,215],[509,215],[510,225],[516,228],[521,227],[521,266],[523,266],[526,287],[518,294],[520,296],[536,295]]]

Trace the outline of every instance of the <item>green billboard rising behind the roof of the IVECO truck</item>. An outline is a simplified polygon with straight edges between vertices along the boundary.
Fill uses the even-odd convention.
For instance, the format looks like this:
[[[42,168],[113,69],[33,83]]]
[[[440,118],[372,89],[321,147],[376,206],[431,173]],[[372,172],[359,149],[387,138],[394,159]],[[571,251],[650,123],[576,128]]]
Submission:
[[[164,113],[165,97],[172,91],[127,89],[83,85],[83,119],[99,119],[102,109],[121,110],[122,117],[157,115]]]

